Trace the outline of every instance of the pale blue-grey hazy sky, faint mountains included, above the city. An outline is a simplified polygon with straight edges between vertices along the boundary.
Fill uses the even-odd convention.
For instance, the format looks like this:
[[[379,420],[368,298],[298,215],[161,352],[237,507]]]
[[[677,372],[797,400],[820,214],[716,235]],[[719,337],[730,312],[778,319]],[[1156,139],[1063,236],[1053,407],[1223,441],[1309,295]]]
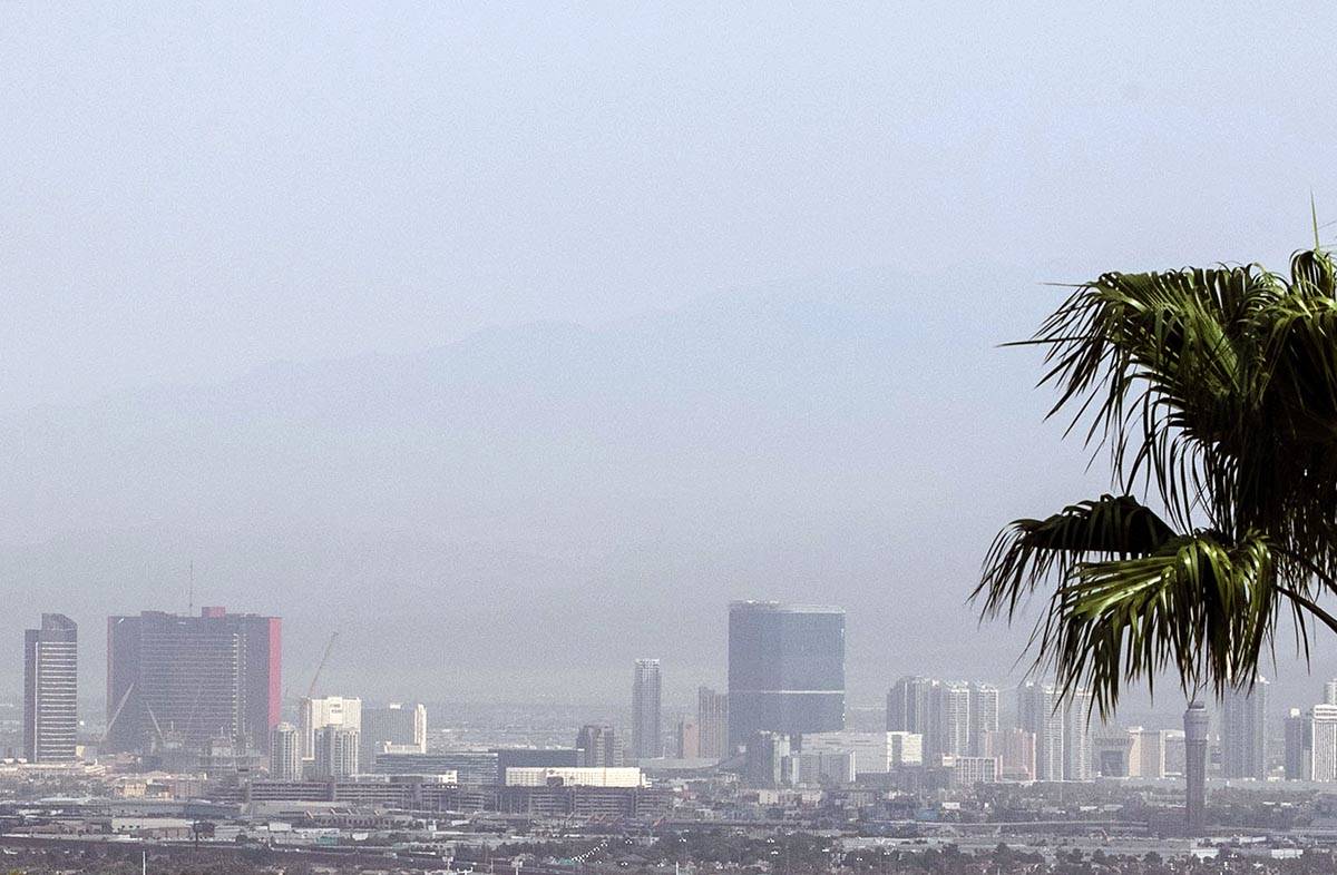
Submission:
[[[983,553],[1107,484],[997,345],[1337,218],[1330,9],[369,7],[0,7],[0,641],[88,695],[191,598],[293,689],[686,701],[733,598],[1015,681]]]

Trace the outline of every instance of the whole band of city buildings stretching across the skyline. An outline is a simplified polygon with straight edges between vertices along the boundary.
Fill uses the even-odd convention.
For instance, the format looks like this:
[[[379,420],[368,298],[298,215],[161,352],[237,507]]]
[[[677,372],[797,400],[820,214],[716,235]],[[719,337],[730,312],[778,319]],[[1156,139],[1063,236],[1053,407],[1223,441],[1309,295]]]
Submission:
[[[43,615],[24,647],[24,757],[74,761],[78,627]],[[1027,681],[1004,708],[996,685],[924,676],[890,687],[885,729],[852,731],[845,613],[832,606],[730,604],[725,691],[698,688],[694,713],[668,725],[660,661],[635,660],[630,732],[591,723],[560,748],[431,749],[422,704],[372,707],[352,696],[309,695],[285,721],[281,659],[278,617],[223,608],[110,617],[99,755],[134,755],[143,768],[168,773],[246,775],[235,794],[266,800],[455,799],[445,788],[489,787],[509,788],[508,806],[539,799],[540,790],[543,804],[555,806],[571,796],[558,788],[582,787],[590,788],[583,799],[623,808],[642,804],[636,794],[655,783],[650,776],[671,771],[666,760],[758,790],[897,787],[906,775],[912,784],[943,787],[1182,777],[1190,822],[1201,818],[1211,769],[1225,779],[1282,772],[1337,781],[1337,681],[1321,704],[1290,711],[1284,769],[1269,759],[1263,679],[1226,697],[1215,736],[1201,704],[1182,729],[1114,728],[1094,719],[1083,691],[1064,697],[1054,684]]]

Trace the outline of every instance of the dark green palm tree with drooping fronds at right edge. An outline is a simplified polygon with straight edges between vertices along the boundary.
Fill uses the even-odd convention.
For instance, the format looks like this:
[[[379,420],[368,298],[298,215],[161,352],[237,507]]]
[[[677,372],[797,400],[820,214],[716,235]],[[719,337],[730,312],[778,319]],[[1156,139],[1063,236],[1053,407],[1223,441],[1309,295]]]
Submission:
[[[1337,592],[1337,266],[1104,274],[1031,341],[1112,492],[995,540],[972,598],[1009,621],[1052,586],[1029,649],[1108,716],[1120,685],[1246,688],[1278,621],[1309,657]],[[1155,506],[1151,506],[1155,505]]]

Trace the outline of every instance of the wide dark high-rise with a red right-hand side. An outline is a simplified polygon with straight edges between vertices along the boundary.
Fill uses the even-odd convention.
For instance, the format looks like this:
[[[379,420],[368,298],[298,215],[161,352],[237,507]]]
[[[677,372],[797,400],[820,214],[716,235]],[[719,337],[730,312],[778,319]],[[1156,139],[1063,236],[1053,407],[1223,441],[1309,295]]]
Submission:
[[[278,617],[205,608],[187,617],[146,610],[107,619],[107,747],[189,748],[226,737],[269,749],[278,725]]]

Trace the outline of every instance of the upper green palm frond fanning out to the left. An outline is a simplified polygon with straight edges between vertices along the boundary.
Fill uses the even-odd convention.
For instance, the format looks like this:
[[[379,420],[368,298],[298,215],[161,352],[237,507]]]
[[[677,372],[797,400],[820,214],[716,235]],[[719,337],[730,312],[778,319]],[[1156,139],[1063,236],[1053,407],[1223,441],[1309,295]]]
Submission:
[[[1258,375],[1257,314],[1285,294],[1257,266],[1104,274],[1076,289],[1029,341],[1048,347],[1059,399],[1111,450],[1115,485],[1154,488],[1189,528]]]

